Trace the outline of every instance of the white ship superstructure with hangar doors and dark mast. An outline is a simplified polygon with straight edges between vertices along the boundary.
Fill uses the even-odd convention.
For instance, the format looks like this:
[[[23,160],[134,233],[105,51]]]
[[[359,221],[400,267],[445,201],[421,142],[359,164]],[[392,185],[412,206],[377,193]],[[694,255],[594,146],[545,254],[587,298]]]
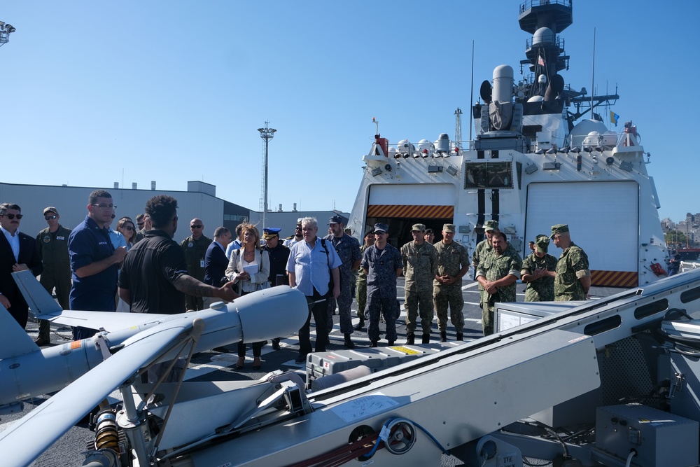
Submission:
[[[595,111],[617,95],[589,97],[559,75],[569,57],[558,33],[572,18],[568,0],[520,6],[521,29],[532,34],[521,67],[532,76],[516,83],[512,67],[496,67],[492,81],[482,83],[482,102],[472,106],[476,137],[468,144],[440,134],[435,142],[390,145],[377,134],[363,157],[349,221],[354,235],[385,222],[390,242],[400,246],[413,223],[436,233],[454,223],[456,239],[473,251],[484,222],[496,219],[526,255],[529,240],[566,223],[589,255],[594,285],[631,287],[664,277],[654,266],[668,256],[660,204],[636,125],[608,130]]]

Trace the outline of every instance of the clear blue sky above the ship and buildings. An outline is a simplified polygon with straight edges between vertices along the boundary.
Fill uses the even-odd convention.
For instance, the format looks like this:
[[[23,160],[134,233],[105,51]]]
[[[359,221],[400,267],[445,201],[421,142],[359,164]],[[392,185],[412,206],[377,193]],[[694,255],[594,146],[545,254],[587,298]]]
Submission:
[[[269,206],[349,211],[379,132],[454,137],[493,68],[519,77],[519,1],[3,0],[0,180],[186,190],[258,209],[269,120]],[[617,92],[674,221],[700,211],[691,149],[700,3],[577,0],[561,32],[572,88]],[[680,127],[678,134],[673,128]],[[612,127],[615,130],[615,127]],[[22,200],[12,200],[22,203]]]

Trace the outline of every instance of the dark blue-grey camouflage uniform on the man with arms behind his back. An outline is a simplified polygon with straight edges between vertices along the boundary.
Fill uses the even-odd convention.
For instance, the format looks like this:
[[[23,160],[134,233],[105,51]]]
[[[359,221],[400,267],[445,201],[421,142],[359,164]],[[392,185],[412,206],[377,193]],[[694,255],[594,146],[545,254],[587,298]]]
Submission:
[[[401,253],[390,244],[383,250],[372,245],[365,249],[360,268],[367,269],[367,307],[365,318],[370,321],[367,337],[379,340],[379,315],[386,321],[386,340],[396,340],[396,319],[400,311],[396,300],[396,270],[401,269]]]

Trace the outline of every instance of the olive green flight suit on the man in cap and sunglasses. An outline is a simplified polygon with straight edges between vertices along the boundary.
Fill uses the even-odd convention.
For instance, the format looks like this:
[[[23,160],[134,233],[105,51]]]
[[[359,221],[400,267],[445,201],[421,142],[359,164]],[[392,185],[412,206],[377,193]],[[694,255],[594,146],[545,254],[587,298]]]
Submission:
[[[52,293],[53,288],[56,288],[56,298],[63,309],[70,309],[71,256],[68,252],[70,235],[71,229],[60,224],[55,232],[50,232],[47,227],[36,235],[36,248],[43,264],[39,282],[48,293]],[[50,331],[49,321],[40,319],[39,337],[49,339]]]

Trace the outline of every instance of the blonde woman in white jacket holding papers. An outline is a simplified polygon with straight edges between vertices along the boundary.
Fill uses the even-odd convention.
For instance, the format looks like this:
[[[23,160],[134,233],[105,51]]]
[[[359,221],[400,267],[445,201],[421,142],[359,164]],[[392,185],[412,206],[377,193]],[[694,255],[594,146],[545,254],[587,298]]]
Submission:
[[[260,247],[260,232],[255,225],[244,224],[241,230],[243,246],[234,250],[228,263],[226,277],[234,281],[239,295],[259,291],[269,287],[269,257]],[[253,368],[260,369],[260,354],[265,342],[253,342]],[[236,369],[243,368],[246,361],[246,344],[238,343]]]

